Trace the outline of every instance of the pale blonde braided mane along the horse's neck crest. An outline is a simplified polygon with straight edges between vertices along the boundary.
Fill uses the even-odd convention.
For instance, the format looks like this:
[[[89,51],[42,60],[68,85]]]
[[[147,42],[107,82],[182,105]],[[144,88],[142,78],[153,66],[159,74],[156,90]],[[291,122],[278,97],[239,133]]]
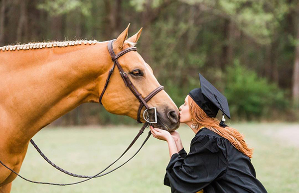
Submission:
[[[0,52],[4,51],[14,51],[14,50],[29,50],[29,49],[42,49],[42,48],[53,48],[53,47],[67,47],[67,46],[77,46],[86,44],[96,44],[97,40],[75,40],[75,41],[53,41],[53,42],[35,42],[28,44],[17,44],[17,45],[7,45],[0,47]]]

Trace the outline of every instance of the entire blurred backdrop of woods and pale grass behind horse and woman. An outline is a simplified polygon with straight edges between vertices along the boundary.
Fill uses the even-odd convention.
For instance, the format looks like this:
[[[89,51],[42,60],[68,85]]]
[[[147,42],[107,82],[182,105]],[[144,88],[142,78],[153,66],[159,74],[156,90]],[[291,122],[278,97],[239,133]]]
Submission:
[[[299,193],[299,0],[0,0],[0,46],[106,41],[129,23],[129,36],[143,27],[138,51],[177,106],[199,87],[200,72],[227,97],[228,123],[254,148],[252,163],[268,192]],[[33,139],[58,166],[93,175],[126,149],[139,130],[135,123],[85,103]],[[188,152],[194,133],[185,125],[178,131]],[[11,192],[165,193],[168,162],[166,143],[151,137],[130,163],[102,179],[49,187],[17,178]],[[78,180],[55,171],[31,146],[20,174]]]

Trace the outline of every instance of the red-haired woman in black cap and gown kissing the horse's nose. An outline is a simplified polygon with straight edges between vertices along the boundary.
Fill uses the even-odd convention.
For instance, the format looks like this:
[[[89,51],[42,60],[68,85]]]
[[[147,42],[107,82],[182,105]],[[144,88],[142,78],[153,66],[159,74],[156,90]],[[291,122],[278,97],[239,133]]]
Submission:
[[[179,107],[180,122],[195,133],[189,154],[177,131],[150,127],[153,137],[168,143],[164,185],[171,193],[267,193],[251,164],[252,149],[242,134],[224,124],[224,114],[230,118],[226,98],[200,74],[199,79],[201,88],[192,90]],[[215,118],[219,109],[220,123]]]

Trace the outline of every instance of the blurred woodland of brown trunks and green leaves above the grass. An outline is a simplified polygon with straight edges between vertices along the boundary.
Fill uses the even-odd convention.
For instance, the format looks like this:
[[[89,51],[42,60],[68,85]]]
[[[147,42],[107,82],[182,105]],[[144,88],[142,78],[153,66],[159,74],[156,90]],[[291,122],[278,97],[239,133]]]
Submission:
[[[129,36],[177,106],[198,72],[233,121],[299,120],[298,0],[0,0],[0,46]],[[52,125],[134,124],[83,104]]]

